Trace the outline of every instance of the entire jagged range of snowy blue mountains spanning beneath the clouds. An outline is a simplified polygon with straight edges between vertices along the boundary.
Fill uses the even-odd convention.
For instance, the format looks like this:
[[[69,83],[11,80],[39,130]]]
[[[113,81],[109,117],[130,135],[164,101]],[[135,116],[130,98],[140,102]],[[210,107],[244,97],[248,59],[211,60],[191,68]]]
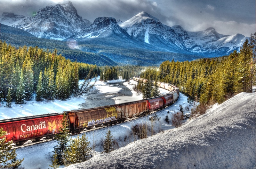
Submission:
[[[105,18],[111,20],[111,17]],[[212,27],[204,31],[188,32],[180,25],[172,27],[164,25],[146,12],[140,12],[125,22],[117,20],[115,24],[113,24],[115,19],[112,18],[109,22],[112,25],[106,25],[98,19],[96,18],[93,23],[82,19],[72,3],[65,1],[42,8],[35,17],[23,18],[12,26],[26,30],[39,38],[65,41],[75,38],[80,44],[88,44],[88,41],[91,41],[92,44],[99,43],[111,47],[135,46],[152,51],[205,57],[227,55],[233,50],[239,50],[239,45],[246,39],[238,34],[232,37],[222,35]]]

